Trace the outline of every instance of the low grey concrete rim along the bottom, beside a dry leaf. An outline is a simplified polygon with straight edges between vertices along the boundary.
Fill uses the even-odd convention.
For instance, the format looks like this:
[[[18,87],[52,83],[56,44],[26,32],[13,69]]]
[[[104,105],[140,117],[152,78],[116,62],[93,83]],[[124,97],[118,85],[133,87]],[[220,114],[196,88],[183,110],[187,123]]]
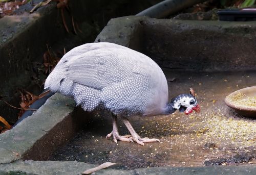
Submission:
[[[16,161],[0,164],[0,174],[81,174],[97,165],[83,162],[60,161]],[[151,167],[134,170],[117,170],[112,168],[96,171],[94,174],[254,174],[256,166],[208,166],[208,167]]]

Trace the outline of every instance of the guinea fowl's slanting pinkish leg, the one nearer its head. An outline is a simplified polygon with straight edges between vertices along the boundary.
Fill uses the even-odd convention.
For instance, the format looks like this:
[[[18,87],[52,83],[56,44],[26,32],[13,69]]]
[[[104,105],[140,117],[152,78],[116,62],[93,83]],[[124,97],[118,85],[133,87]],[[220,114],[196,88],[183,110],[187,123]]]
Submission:
[[[133,129],[132,124],[129,122],[129,120],[126,117],[122,117],[123,123],[125,124],[126,128],[130,131],[130,133],[133,136],[133,140],[136,141],[136,143],[144,146],[144,143],[148,142],[160,142],[158,139],[149,139],[147,137],[140,138],[140,136],[136,133],[136,131]]]

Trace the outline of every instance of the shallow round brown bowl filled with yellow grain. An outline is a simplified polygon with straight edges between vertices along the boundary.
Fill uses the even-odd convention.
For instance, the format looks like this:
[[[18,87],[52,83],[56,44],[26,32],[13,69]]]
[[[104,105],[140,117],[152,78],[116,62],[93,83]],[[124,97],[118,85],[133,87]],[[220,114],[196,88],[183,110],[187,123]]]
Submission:
[[[244,101],[252,98],[256,99],[256,86],[234,91],[226,96],[224,101],[228,107],[236,110],[238,114],[256,118],[256,101],[255,104],[254,99],[250,100],[251,103],[249,105],[243,104]]]

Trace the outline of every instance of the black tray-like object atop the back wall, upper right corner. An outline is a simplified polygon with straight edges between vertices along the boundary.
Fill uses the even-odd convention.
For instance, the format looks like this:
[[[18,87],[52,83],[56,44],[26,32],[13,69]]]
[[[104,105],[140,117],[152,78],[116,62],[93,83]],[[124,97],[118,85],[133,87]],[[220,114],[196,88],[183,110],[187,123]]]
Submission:
[[[255,21],[256,9],[225,9],[217,12],[223,21]]]

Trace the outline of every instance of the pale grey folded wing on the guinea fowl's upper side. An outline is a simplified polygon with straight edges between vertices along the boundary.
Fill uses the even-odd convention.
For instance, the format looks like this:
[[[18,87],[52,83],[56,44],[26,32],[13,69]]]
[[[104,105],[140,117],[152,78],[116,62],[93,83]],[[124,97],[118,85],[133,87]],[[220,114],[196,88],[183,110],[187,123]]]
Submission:
[[[77,47],[70,54],[67,53],[65,58],[61,59],[60,66],[57,65],[55,68],[65,69],[65,77],[73,82],[98,90],[128,77],[142,76],[145,73],[148,60],[140,63],[144,55],[135,54],[135,51],[116,44],[102,44],[101,47]]]

